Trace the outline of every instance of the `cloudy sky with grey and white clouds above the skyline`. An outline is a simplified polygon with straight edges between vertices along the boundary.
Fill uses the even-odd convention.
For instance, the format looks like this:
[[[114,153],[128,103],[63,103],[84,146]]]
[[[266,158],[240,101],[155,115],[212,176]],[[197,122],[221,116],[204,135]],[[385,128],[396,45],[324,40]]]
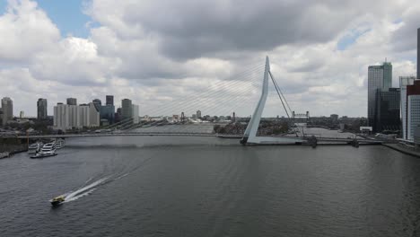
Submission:
[[[418,27],[409,0],[0,0],[0,97],[15,115],[113,94],[141,115],[248,116],[269,56],[292,110],[365,117],[367,67],[416,75]]]

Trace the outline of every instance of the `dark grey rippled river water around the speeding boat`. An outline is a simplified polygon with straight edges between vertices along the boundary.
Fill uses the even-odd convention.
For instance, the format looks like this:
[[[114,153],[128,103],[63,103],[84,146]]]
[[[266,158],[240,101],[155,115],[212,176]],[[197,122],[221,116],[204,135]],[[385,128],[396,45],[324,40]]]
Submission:
[[[420,235],[420,159],[386,147],[66,142],[0,160],[1,236]],[[60,194],[70,201],[51,208]]]

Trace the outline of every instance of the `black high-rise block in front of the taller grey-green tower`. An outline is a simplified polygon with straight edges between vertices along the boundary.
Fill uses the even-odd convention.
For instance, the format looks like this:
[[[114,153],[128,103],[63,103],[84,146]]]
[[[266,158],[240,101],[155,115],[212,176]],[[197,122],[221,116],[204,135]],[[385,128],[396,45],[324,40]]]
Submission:
[[[388,90],[378,89],[376,92],[375,122],[373,130],[398,131],[401,120],[399,119],[400,106],[399,88]]]

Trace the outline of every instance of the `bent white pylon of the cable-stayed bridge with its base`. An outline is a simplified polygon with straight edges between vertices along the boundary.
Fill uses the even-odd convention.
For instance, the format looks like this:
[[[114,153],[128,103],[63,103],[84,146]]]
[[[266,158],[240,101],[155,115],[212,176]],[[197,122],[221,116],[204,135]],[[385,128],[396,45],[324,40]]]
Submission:
[[[299,137],[290,137],[290,136],[257,136],[259,121],[261,120],[261,115],[266,106],[267,95],[268,95],[268,76],[271,76],[270,72],[270,61],[266,57],[266,68],[264,70],[264,81],[262,85],[261,97],[259,98],[257,107],[252,114],[252,117],[249,120],[249,124],[243,137],[241,139],[241,144],[296,144],[302,143],[304,140]]]

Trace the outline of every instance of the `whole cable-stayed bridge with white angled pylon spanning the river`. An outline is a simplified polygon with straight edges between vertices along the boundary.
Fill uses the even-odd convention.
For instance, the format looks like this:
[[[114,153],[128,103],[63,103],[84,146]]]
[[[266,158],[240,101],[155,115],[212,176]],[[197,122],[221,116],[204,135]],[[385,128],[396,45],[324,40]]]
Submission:
[[[198,80],[198,79],[197,79]],[[270,83],[271,82],[271,83]],[[226,96],[227,95],[227,96]],[[290,132],[279,136],[258,135],[258,128],[261,129],[260,121],[263,110],[266,107],[267,98],[270,96],[272,110],[284,110],[285,119],[292,125]],[[258,98],[259,96],[259,98]],[[274,98],[273,98],[274,97]],[[253,101],[251,101],[253,100]],[[257,101],[257,103],[255,103]],[[276,101],[276,103],[274,103]],[[254,107],[252,107],[254,106]],[[317,145],[322,142],[341,142],[358,146],[361,144],[378,143],[367,139],[355,140],[353,137],[320,137],[299,135],[293,124],[294,112],[284,97],[274,75],[270,70],[269,58],[266,57],[265,65],[247,68],[240,74],[233,75],[229,80],[215,81],[203,85],[203,92],[195,92],[184,95],[179,100],[169,101],[163,105],[156,106],[150,111],[153,114],[171,111],[196,111],[197,108],[204,108],[213,111],[214,114],[230,114],[232,111],[243,109],[248,111],[248,124],[235,122],[234,118],[227,123],[210,123],[188,121],[184,112],[176,122],[168,122],[167,118],[143,119],[134,123],[133,118],[127,118],[118,123],[101,127],[83,134],[58,134],[58,135],[29,135],[17,136],[21,139],[43,139],[43,138],[68,138],[68,137],[99,137],[99,136],[220,136],[241,139],[243,145],[280,145],[280,144],[309,144]],[[229,125],[229,126],[226,126]],[[227,131],[223,134],[216,133],[214,126],[226,126]],[[246,127],[245,127],[246,126]]]

